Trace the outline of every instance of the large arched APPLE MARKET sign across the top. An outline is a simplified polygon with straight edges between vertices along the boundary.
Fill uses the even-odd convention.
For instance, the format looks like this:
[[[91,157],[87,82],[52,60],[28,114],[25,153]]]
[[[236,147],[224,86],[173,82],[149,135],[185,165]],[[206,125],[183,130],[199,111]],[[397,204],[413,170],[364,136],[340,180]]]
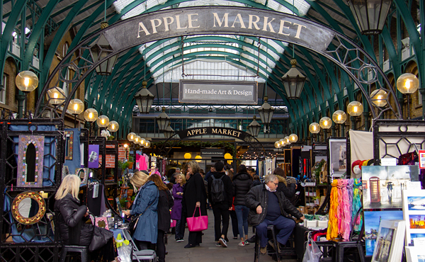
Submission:
[[[113,50],[124,50],[181,35],[253,35],[324,52],[334,38],[329,28],[276,11],[229,6],[175,8],[146,13],[110,25],[105,37]]]

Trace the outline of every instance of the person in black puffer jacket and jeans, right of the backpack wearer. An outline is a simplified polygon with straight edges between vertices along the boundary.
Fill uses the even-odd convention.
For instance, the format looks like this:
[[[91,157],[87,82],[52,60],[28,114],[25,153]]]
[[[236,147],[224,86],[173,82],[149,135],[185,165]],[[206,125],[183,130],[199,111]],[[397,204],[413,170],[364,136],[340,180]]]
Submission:
[[[232,193],[234,195],[234,209],[237,215],[237,224],[241,242],[239,246],[246,246],[248,239],[248,215],[249,208],[245,205],[245,195],[252,188],[252,179],[245,165],[240,165],[237,174],[233,176]],[[245,233],[245,234],[244,234]]]

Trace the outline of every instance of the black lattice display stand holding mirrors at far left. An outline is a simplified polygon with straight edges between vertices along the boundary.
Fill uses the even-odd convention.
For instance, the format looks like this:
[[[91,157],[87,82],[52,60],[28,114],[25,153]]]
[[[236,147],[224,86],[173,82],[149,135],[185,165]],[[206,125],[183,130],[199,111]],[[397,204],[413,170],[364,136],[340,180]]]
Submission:
[[[50,119],[15,120],[12,115],[5,117],[3,111],[0,118],[0,254],[5,261],[30,261],[36,256],[57,258],[59,240],[52,229],[52,210],[54,193],[62,181],[62,165],[64,161],[64,122]],[[19,131],[18,131],[19,130]],[[51,130],[51,131],[49,131]],[[35,158],[35,164],[43,164],[43,183],[38,187],[16,185],[18,176],[18,161],[13,147],[18,147],[19,136],[45,137],[44,156]],[[16,152],[17,153],[17,152]],[[44,159],[44,163],[41,162]],[[47,159],[47,161],[46,161]],[[28,164],[28,163],[27,163]],[[24,182],[25,183],[25,182]],[[47,186],[48,185],[48,186]],[[30,187],[28,187],[30,186]],[[29,192],[28,192],[29,191]],[[47,193],[47,198],[41,197],[40,191]],[[28,222],[18,222],[13,218],[19,205],[13,206],[16,197],[28,197],[39,203],[39,209],[45,212],[40,217],[31,217]],[[44,195],[44,194],[43,194]],[[45,205],[40,205],[45,203]],[[50,220],[50,218],[51,220]],[[57,230],[57,227],[55,227]],[[32,241],[32,240],[36,240]]]

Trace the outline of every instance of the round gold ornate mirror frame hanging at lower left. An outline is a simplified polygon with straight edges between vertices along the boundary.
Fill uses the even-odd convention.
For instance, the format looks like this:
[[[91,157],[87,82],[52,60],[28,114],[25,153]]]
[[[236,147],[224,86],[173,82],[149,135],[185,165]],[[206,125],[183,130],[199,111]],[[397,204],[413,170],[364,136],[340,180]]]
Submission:
[[[21,204],[22,200],[26,198],[31,198],[38,203],[38,212],[33,217],[23,217],[21,213],[19,212],[19,204]],[[13,199],[12,203],[12,215],[15,218],[16,221],[18,221],[21,224],[35,224],[39,222],[42,217],[45,215],[46,212],[46,203],[45,200],[42,198],[41,195],[39,195],[36,192],[33,191],[26,191],[23,193],[20,193],[19,195],[16,195],[16,198]]]

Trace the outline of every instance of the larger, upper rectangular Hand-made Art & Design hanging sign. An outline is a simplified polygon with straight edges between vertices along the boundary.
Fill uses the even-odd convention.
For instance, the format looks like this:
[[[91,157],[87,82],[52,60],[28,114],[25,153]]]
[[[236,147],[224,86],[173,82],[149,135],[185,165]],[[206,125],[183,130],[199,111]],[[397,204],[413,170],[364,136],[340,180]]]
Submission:
[[[249,81],[180,80],[180,103],[258,103],[258,86]]]

